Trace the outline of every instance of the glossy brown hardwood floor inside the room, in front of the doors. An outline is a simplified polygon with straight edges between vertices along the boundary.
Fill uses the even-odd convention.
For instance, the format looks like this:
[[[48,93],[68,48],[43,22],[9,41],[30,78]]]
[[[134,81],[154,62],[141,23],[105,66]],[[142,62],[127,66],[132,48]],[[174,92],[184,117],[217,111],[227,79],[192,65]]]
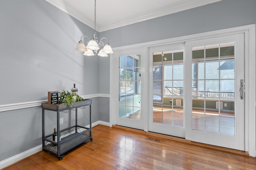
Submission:
[[[127,129],[98,125],[92,128],[92,142],[60,161],[40,151],[4,170],[256,170],[256,158],[241,151]]]

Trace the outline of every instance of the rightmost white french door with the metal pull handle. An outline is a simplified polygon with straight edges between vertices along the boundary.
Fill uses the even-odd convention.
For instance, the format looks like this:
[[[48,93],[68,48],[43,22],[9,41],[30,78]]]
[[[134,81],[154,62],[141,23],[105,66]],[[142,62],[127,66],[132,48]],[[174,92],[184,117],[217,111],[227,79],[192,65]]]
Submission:
[[[244,150],[244,33],[185,49],[186,139]]]

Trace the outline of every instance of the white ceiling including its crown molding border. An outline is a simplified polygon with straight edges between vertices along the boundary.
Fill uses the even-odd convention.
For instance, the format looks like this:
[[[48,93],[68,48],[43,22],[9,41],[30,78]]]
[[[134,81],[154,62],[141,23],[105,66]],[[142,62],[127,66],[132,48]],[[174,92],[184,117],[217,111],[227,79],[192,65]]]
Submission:
[[[46,0],[94,29],[94,0]],[[99,32],[221,0],[96,0]]]

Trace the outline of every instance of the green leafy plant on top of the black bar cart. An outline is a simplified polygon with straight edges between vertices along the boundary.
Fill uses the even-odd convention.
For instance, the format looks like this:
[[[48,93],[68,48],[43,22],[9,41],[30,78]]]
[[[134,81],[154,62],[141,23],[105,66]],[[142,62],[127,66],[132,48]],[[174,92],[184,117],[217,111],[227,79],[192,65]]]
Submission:
[[[59,104],[67,104],[71,106],[71,103],[80,102],[83,100],[83,98],[80,97],[78,94],[73,95],[72,93],[68,92],[68,90],[67,91],[63,90],[62,92],[59,92],[59,93],[60,93]]]

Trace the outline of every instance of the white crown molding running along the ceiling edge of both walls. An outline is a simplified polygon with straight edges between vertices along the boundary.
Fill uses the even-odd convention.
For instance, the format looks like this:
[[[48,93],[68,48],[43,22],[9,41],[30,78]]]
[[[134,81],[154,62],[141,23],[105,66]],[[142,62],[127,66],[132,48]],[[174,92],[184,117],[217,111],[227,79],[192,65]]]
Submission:
[[[93,20],[91,20],[84,14],[78,12],[75,8],[73,8],[72,6],[67,4],[65,1],[58,1],[58,0],[46,0],[46,1],[94,29],[94,21]],[[154,18],[158,18],[161,16],[166,16],[169,14],[174,14],[176,12],[189,10],[192,8],[204,6],[204,5],[211,4],[214,2],[219,2],[219,1],[222,1],[222,0],[207,0],[207,1],[206,0],[182,0],[182,1],[176,2],[174,4],[164,6],[163,8],[158,8],[158,9],[151,10],[151,11],[139,14],[139,15],[134,15],[130,18],[124,18],[121,21],[120,20],[115,21],[112,23],[108,23],[106,25],[98,25],[96,23],[96,31],[98,31],[98,32],[107,31],[110,29],[123,27],[123,26],[130,25],[133,23],[138,23],[138,22],[154,19]]]

